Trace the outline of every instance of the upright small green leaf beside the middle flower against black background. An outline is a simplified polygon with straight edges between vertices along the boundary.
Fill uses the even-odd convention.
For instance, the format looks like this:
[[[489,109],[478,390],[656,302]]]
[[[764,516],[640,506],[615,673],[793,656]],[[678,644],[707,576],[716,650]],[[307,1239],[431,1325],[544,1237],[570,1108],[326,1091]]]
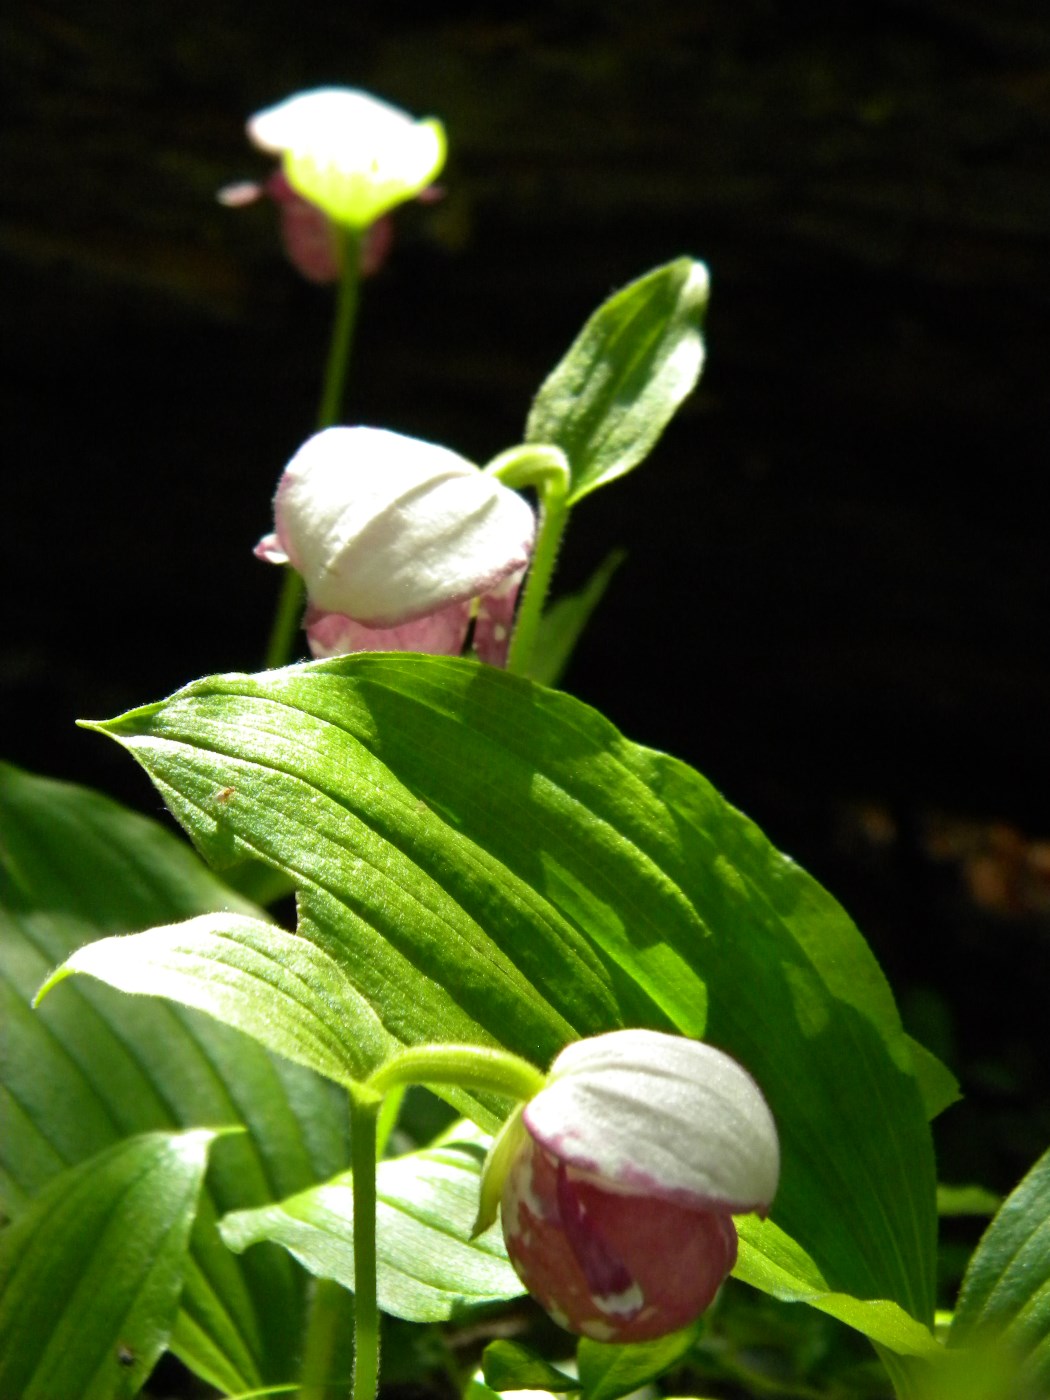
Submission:
[[[707,269],[692,258],[603,302],[535,398],[526,442],[550,442],[573,470],[570,504],[637,466],[700,377]]]

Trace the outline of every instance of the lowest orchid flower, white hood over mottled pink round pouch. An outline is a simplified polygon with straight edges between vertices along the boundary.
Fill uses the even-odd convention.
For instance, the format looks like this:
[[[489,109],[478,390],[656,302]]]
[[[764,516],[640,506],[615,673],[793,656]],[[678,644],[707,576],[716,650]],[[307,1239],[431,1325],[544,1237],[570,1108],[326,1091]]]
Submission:
[[[736,1261],[732,1217],[764,1215],[780,1175],[746,1070],[655,1030],[567,1046],[497,1141],[511,1263],[560,1326],[596,1341],[693,1322]]]

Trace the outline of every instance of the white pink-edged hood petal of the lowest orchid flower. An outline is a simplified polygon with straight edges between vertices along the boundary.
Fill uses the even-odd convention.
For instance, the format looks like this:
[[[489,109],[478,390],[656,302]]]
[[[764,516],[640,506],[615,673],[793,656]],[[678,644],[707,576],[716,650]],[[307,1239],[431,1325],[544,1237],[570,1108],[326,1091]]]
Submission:
[[[773,1200],[780,1147],[752,1077],[699,1040],[615,1030],[567,1046],[525,1107],[529,1133],[622,1189],[734,1212]]]

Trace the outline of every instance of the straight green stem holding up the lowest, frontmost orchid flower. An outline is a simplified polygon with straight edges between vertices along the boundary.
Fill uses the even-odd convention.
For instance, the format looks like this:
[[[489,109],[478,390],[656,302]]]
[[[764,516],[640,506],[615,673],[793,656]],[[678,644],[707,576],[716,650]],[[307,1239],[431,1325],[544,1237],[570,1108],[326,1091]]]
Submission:
[[[379,1303],[375,1289],[375,1131],[378,1095],[350,1093],[350,1168],[354,1191],[354,1385],[353,1400],[375,1400],[379,1387]]]

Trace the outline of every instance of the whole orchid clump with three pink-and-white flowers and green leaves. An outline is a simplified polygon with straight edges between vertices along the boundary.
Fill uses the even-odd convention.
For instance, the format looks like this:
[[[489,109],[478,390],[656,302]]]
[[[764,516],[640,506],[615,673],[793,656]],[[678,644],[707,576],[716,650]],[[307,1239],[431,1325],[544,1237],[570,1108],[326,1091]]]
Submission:
[[[1050,1155],[938,1312],[951,1074],[827,892],[553,689],[615,567],[552,603],[566,525],[694,386],[704,267],[599,307],[487,463],[340,426],[363,249],[444,133],[342,90],[249,130],[339,279],[318,431],[267,669],[87,724],[196,853],[3,770],[0,1396],[171,1352],[374,1400],[381,1337],[463,1400],[1046,1393]]]

